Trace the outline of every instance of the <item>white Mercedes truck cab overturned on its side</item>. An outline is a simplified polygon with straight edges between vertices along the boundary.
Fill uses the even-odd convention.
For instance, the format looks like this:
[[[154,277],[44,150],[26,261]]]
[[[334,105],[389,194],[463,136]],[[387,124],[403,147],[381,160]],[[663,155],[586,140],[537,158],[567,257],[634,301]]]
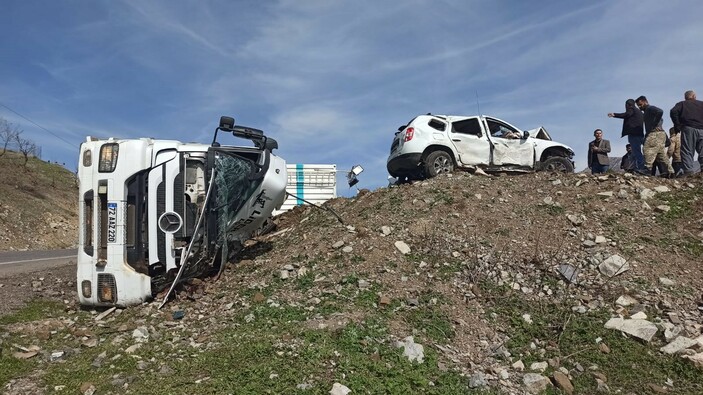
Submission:
[[[218,131],[250,146],[220,145]],[[138,304],[223,268],[285,200],[276,148],[231,117],[210,145],[88,137],[78,164],[80,303]]]

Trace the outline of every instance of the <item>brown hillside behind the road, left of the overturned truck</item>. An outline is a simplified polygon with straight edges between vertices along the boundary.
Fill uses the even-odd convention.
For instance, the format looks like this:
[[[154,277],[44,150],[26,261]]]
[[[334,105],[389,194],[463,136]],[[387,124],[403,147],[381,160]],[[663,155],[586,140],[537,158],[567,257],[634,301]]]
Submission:
[[[69,248],[78,241],[78,184],[58,164],[0,157],[0,251]]]

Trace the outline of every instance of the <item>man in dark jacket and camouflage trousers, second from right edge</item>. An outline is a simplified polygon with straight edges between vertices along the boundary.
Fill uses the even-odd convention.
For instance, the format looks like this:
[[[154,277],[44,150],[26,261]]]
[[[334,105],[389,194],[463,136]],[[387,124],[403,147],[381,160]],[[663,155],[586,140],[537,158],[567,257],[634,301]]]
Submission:
[[[652,171],[654,161],[660,161],[666,164],[667,174],[662,174],[663,177],[673,177],[674,169],[669,163],[669,158],[666,156],[666,132],[662,129],[662,116],[664,111],[661,108],[649,104],[647,98],[640,96],[635,100],[637,107],[644,111],[644,167],[645,174],[648,175]]]

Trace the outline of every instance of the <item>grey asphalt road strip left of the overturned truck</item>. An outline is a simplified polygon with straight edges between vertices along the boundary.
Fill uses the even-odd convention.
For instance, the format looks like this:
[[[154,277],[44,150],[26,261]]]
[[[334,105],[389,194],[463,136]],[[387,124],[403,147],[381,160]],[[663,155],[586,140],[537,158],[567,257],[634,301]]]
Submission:
[[[0,252],[0,278],[75,265],[76,254],[75,249]]]

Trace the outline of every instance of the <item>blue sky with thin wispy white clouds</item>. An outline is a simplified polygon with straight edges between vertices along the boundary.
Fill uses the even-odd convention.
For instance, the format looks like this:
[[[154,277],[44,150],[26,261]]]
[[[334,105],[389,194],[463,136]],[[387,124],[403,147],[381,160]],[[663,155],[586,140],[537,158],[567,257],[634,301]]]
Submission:
[[[627,98],[668,114],[703,91],[697,0],[3,0],[0,36],[0,117],[70,169],[86,135],[209,142],[232,115],[374,189],[399,125],[475,114],[477,95],[582,169],[596,128],[624,153],[606,114]]]

